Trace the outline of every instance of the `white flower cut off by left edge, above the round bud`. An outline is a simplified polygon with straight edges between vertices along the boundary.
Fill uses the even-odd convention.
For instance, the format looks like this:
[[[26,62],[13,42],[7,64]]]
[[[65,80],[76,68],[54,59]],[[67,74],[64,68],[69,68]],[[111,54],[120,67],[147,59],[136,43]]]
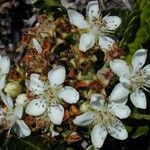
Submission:
[[[10,59],[0,55],[0,92],[5,87],[6,75],[10,69]]]

